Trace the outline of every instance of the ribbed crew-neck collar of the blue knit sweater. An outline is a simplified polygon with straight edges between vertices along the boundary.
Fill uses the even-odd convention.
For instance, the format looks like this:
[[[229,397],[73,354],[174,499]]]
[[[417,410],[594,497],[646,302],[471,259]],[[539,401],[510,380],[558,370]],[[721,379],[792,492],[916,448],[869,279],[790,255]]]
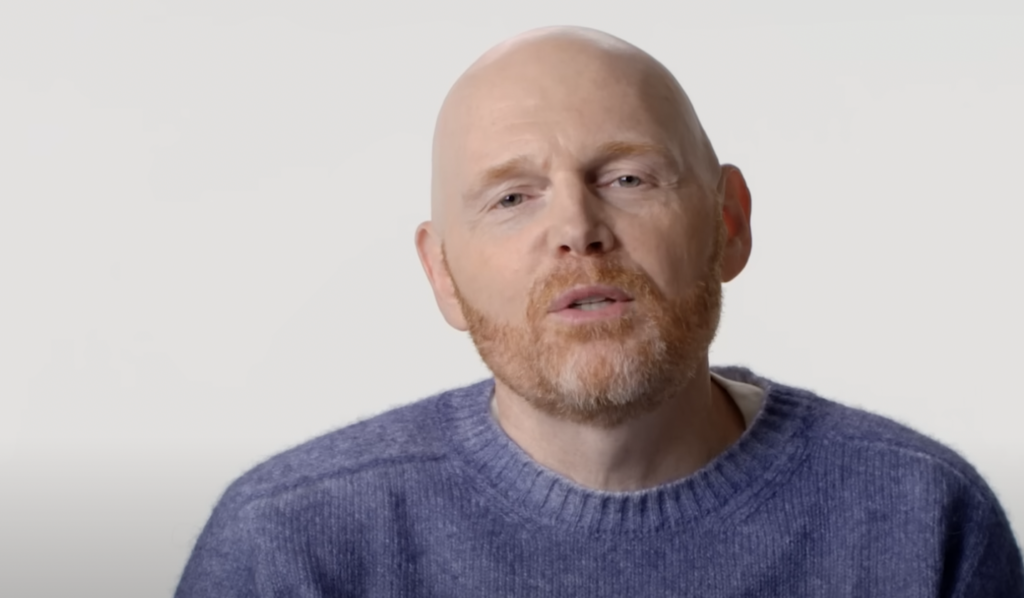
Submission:
[[[449,391],[438,407],[455,457],[504,508],[578,531],[642,533],[707,522],[742,508],[784,478],[804,452],[801,431],[813,394],[743,368],[712,370],[764,389],[761,412],[736,442],[700,470],[636,492],[587,488],[530,459],[490,416],[493,378]]]

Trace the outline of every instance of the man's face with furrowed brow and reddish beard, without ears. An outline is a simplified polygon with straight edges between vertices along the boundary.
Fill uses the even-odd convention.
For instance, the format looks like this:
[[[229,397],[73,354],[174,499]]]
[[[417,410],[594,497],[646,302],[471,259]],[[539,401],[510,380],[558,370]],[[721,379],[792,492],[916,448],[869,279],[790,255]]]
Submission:
[[[707,364],[727,241],[716,189],[656,83],[613,66],[527,85],[510,70],[435,154],[443,275],[499,385],[614,425]],[[580,289],[599,301],[559,302]]]

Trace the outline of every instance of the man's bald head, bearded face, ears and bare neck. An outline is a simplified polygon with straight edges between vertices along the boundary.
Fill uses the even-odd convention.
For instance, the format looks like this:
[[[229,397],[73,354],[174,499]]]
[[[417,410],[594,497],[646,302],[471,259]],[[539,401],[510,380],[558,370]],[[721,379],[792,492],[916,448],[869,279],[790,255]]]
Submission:
[[[579,28],[499,44],[444,100],[431,199],[424,271],[495,373],[498,423],[534,460],[636,490],[739,437],[708,348],[721,283],[750,256],[751,196],[651,56]],[[583,324],[548,312],[594,283],[634,300]]]

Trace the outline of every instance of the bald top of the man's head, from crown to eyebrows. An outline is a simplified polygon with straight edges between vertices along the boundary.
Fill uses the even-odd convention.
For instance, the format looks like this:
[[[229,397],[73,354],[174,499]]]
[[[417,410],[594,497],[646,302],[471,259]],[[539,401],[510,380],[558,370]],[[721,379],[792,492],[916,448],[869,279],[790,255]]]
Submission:
[[[715,151],[686,93],[660,62],[596,30],[544,28],[485,52],[445,97],[434,130],[431,218],[435,226],[443,229],[449,213],[458,206],[468,182],[466,163],[487,145],[481,137],[496,132],[497,121],[526,115],[554,123],[588,109],[594,125],[601,123],[602,110],[609,116],[624,110],[637,113],[633,121],[659,129],[686,176],[714,188],[720,171]],[[505,132],[510,132],[507,127]],[[515,132],[511,133],[514,143]]]

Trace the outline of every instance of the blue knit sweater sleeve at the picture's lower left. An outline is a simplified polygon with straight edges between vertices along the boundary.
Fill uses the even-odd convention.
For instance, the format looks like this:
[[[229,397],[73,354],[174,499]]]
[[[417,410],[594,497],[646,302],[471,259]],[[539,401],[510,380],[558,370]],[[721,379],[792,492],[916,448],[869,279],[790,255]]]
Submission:
[[[256,598],[252,509],[230,489],[213,510],[178,582],[174,598]]]

